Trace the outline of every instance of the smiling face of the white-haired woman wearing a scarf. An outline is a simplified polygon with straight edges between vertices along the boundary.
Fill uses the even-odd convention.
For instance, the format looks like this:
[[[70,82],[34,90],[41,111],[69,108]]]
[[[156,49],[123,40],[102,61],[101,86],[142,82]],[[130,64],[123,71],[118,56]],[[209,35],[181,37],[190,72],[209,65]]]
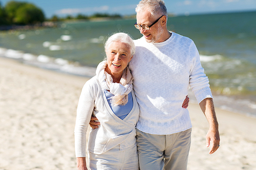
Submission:
[[[133,58],[129,45],[123,42],[112,42],[106,49],[106,57],[108,66],[105,71],[116,79],[121,78],[124,68]]]

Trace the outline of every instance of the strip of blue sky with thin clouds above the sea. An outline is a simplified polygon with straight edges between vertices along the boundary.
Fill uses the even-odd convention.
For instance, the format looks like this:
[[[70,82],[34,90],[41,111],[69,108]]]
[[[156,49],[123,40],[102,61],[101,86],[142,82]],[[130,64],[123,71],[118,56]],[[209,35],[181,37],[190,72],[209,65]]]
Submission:
[[[0,0],[5,6],[10,0]],[[108,13],[120,15],[135,14],[139,0],[15,0],[29,2],[39,7],[47,18],[53,15],[65,17],[78,13],[92,15]],[[168,13],[177,15],[240,12],[256,10],[256,0],[165,0]]]

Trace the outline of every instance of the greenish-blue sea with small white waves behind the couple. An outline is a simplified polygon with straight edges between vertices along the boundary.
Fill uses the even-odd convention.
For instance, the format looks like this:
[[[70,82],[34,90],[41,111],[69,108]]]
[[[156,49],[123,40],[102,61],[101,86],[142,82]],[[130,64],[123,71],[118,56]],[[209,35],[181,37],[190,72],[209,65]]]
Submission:
[[[168,17],[170,31],[194,40],[215,106],[256,117],[256,11]],[[136,18],[58,22],[56,27],[0,31],[0,56],[93,77],[103,43],[117,32],[137,39]],[[189,91],[190,102],[196,103]]]

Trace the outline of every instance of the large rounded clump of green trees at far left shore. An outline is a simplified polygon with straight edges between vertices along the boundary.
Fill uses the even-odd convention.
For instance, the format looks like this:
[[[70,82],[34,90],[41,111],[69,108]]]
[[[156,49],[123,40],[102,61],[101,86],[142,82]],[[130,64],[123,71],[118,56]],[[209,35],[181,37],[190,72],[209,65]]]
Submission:
[[[32,25],[45,20],[44,12],[27,2],[9,1],[0,4],[0,25]]]

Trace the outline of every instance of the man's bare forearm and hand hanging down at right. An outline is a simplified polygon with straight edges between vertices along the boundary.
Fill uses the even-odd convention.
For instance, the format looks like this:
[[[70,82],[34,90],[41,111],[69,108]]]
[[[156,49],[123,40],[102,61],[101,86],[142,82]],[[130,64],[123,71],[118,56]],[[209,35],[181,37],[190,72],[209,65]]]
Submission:
[[[206,98],[199,105],[209,123],[209,130],[206,134],[206,146],[209,147],[211,141],[209,154],[213,154],[220,145],[219,124],[215,114],[214,102],[211,98]]]

